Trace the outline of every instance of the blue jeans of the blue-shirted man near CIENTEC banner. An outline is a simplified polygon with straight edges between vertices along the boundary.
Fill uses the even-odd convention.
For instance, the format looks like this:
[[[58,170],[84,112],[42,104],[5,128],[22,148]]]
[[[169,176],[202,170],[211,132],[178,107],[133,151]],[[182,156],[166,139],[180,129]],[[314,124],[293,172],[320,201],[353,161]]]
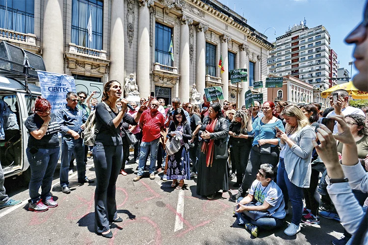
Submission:
[[[78,182],[84,183],[85,180],[85,164],[84,164],[84,145],[83,139],[78,140],[63,137],[61,146],[61,167],[60,167],[60,185],[61,187],[68,186],[68,172],[69,162],[72,154],[76,158],[77,171],[78,171]]]

